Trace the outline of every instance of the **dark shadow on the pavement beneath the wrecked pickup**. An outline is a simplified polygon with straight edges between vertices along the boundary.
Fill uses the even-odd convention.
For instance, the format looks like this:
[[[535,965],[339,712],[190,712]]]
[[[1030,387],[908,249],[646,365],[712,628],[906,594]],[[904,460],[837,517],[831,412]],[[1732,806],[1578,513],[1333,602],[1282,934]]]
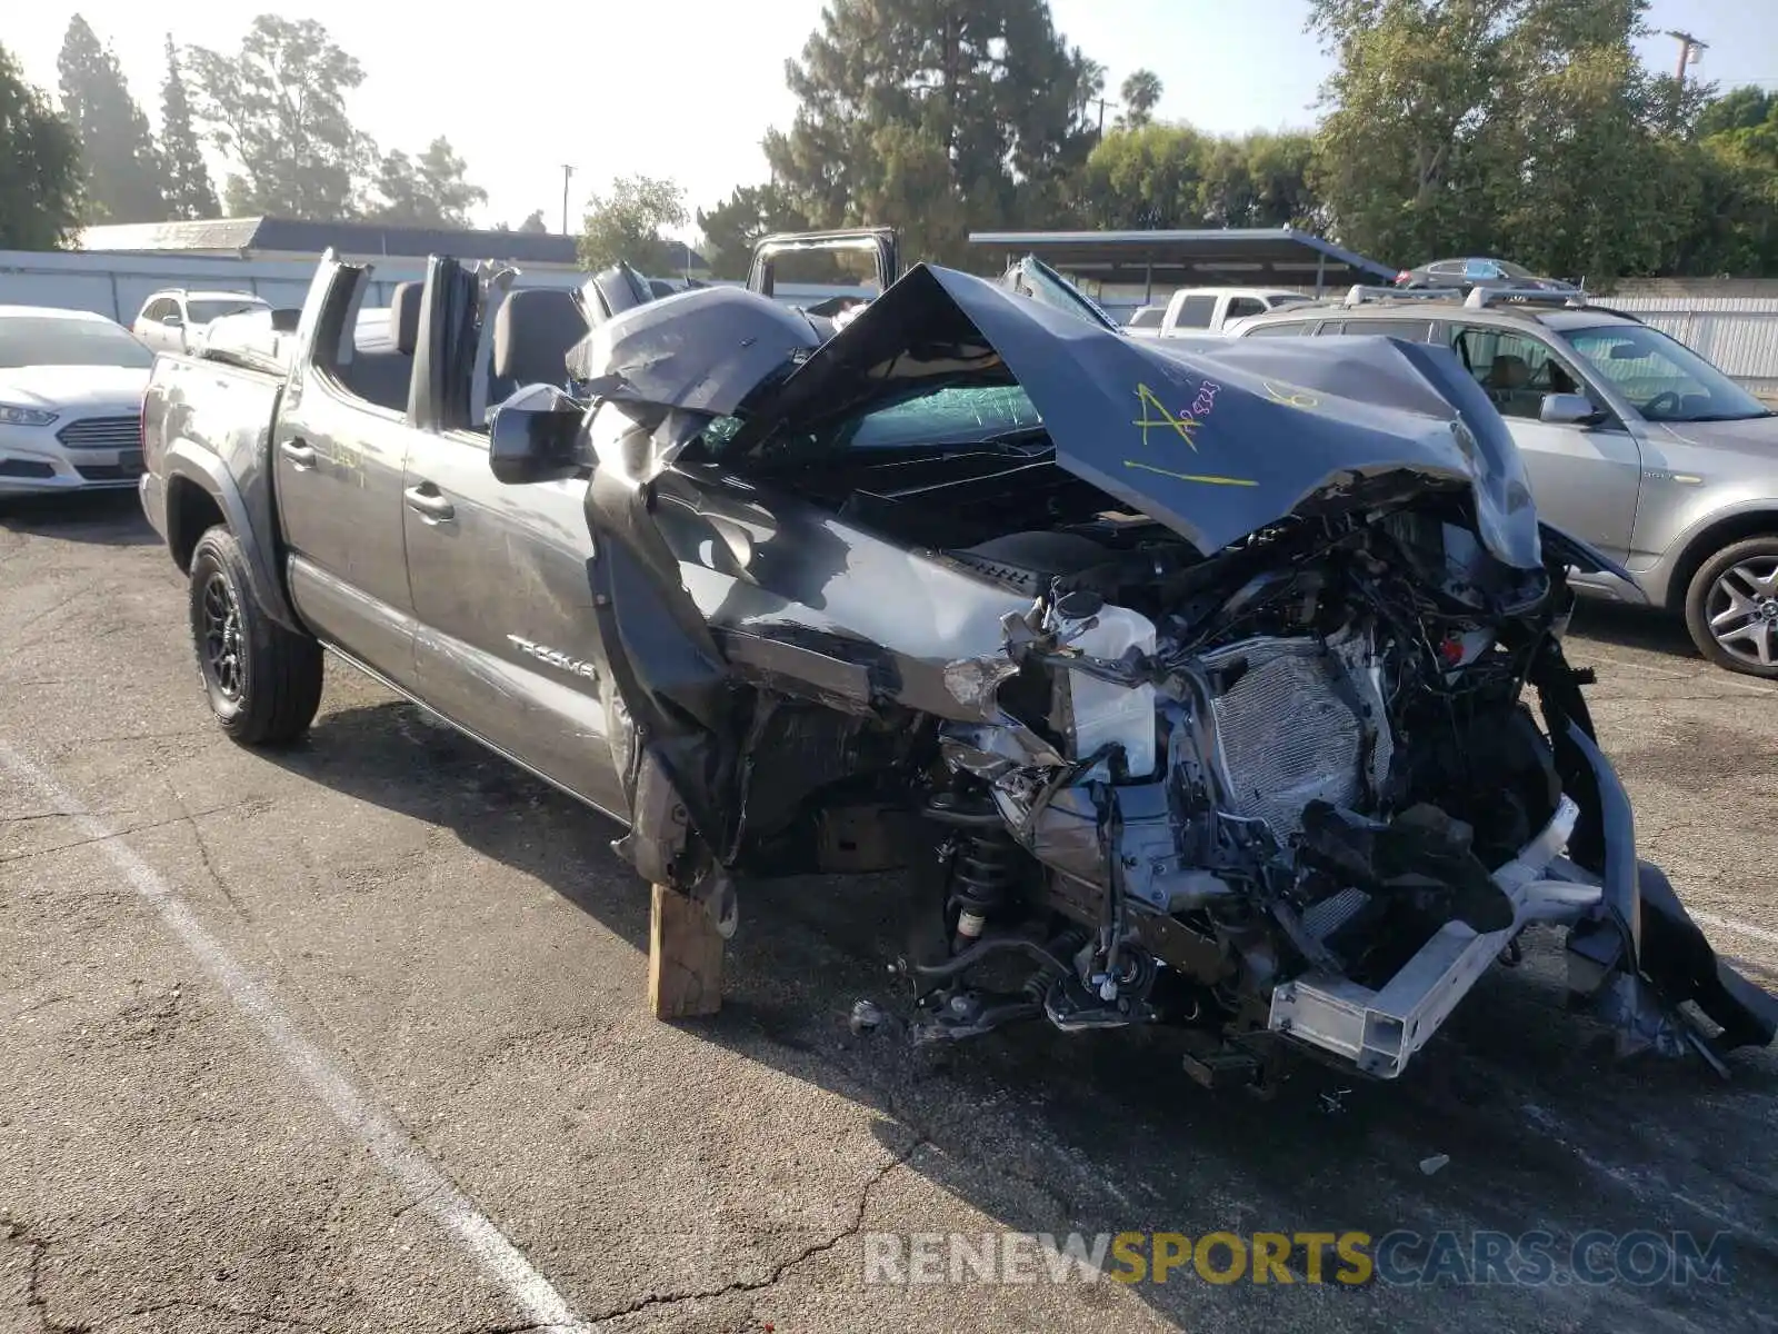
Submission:
[[[615,825],[421,719],[405,703],[329,713],[304,745],[274,758],[455,831],[645,950],[647,895],[608,848]],[[1165,1320],[1339,1330],[1728,1329],[1741,1322],[1735,1313],[1778,1300],[1773,1058],[1741,1053],[1728,1085],[1698,1062],[1620,1064],[1604,1028],[1563,1012],[1554,936],[1527,937],[1524,966],[1483,978],[1399,1081],[1364,1081],[1305,1060],[1277,1097],[1261,1101],[1191,1083],[1165,1032],[1070,1037],[1026,1025],[949,1049],[912,1049],[894,1019],[909,998],[885,969],[912,911],[896,875],[745,886],[724,1010],[685,1028],[873,1108],[880,1140],[909,1170],[1008,1231],[1382,1238],[1414,1229],[1430,1238],[1453,1229],[1469,1254],[1476,1229],[1543,1229],[1563,1263],[1565,1247],[1595,1229],[1684,1229],[1702,1245],[1734,1236],[1726,1286],[1501,1282],[1469,1288],[1470,1302],[1453,1302],[1449,1281],[1310,1293],[1301,1249],[1289,1261],[1294,1286],[1250,1277],[1213,1286],[1188,1265],[1166,1284],[1131,1288]],[[877,1032],[848,1026],[861,998],[891,1014]],[[1430,1174],[1422,1163],[1438,1154],[1449,1163]],[[861,1208],[862,1227],[871,1217]],[[891,1226],[919,1229],[921,1220]],[[1225,1263],[1227,1252],[1218,1266]],[[1326,1265],[1332,1274],[1332,1250]]]

